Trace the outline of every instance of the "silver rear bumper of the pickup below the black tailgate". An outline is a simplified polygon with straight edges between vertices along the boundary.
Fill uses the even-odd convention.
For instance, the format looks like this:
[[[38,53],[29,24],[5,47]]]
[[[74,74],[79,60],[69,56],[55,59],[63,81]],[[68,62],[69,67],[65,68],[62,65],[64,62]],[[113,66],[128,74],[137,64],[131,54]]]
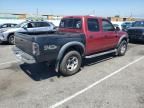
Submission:
[[[28,64],[36,63],[36,60],[35,60],[35,58],[33,56],[23,52],[22,50],[20,50],[17,47],[13,48],[13,52],[16,55],[16,57],[19,60],[23,61],[24,63],[28,63]]]

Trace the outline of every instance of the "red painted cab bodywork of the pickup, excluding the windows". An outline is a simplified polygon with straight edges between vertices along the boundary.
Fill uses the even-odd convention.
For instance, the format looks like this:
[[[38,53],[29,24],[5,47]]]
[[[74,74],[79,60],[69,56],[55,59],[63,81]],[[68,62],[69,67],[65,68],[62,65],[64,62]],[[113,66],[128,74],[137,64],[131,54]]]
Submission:
[[[73,32],[73,33],[84,33],[86,39],[86,54],[90,55],[100,51],[109,50],[115,48],[121,36],[125,35],[125,32],[118,31],[104,31],[102,27],[102,20],[107,20],[101,17],[95,16],[66,16],[64,18],[79,18],[82,20],[81,29],[72,28],[59,28],[60,32]],[[88,18],[94,18],[98,20],[99,31],[91,32],[88,30]],[[107,20],[108,21],[108,20]]]

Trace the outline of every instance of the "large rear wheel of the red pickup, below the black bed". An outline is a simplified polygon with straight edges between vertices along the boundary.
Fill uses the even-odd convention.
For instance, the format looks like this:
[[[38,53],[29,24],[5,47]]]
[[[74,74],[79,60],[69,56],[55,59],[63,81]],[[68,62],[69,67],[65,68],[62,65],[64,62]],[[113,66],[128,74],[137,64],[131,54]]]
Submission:
[[[59,72],[64,76],[71,76],[80,70],[82,57],[77,51],[69,51],[60,63]]]

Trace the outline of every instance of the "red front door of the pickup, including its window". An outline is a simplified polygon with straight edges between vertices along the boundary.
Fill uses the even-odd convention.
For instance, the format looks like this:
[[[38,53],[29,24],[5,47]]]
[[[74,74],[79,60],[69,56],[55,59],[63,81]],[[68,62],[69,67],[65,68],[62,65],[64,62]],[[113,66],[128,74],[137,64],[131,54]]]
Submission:
[[[107,19],[102,19],[102,34],[104,36],[104,48],[111,49],[117,45],[118,35],[114,26]]]

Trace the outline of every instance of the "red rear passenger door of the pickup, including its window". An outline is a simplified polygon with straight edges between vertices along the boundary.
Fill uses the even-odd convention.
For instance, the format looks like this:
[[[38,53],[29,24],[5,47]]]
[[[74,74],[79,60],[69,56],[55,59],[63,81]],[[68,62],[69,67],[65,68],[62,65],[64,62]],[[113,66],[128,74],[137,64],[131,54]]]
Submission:
[[[104,37],[101,34],[100,23],[97,18],[88,18],[86,21],[86,46],[87,54],[103,50]]]

